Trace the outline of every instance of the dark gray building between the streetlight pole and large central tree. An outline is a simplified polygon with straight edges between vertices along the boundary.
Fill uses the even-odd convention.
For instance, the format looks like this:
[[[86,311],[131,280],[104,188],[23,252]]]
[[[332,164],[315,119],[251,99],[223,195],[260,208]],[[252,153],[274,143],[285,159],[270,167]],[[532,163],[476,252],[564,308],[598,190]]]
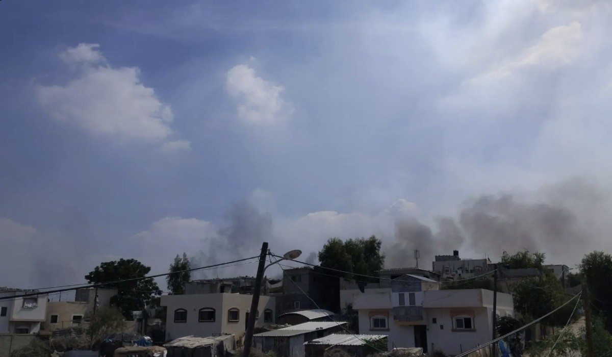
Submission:
[[[283,293],[277,295],[277,315],[298,310],[319,309],[324,301],[318,290],[317,274],[311,267],[285,269]]]

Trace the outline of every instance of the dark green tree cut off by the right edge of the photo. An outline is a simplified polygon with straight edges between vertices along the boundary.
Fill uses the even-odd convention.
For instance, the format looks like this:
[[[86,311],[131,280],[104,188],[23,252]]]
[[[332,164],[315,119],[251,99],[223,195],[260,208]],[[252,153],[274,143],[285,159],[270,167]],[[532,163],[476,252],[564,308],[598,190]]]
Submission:
[[[612,255],[595,251],[584,255],[579,265],[586,280],[595,314],[605,316],[605,328],[612,332]]]

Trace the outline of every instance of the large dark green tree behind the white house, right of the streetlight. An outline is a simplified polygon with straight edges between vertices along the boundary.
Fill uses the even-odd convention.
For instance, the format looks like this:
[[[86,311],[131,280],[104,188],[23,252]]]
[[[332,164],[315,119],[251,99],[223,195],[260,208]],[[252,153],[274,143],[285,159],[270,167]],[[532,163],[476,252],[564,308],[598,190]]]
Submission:
[[[318,258],[321,263],[315,268],[318,290],[326,301],[326,308],[340,312],[340,279],[356,280],[358,284],[376,282],[378,271],[384,267],[383,242],[370,238],[348,239],[330,238]],[[373,277],[373,278],[371,278]]]

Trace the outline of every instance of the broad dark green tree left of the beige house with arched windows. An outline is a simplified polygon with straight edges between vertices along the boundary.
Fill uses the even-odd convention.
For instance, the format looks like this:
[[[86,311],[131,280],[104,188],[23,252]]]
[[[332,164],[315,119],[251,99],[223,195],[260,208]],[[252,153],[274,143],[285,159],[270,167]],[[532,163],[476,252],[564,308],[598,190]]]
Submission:
[[[117,295],[111,298],[111,305],[121,310],[125,318],[131,319],[132,311],[143,311],[155,295],[162,294],[155,280],[144,278],[149,271],[151,268],[138,260],[122,258],[100,263],[85,279],[90,284],[112,282],[103,285],[118,290]]]

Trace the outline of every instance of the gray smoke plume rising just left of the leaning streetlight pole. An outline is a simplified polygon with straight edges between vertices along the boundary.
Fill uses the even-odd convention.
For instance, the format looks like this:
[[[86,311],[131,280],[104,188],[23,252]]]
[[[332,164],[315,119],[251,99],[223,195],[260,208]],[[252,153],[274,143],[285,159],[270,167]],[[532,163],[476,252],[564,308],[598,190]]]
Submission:
[[[225,225],[210,238],[206,244],[208,250],[201,250],[190,258],[192,266],[206,266],[258,255],[261,243],[272,237],[272,216],[259,211],[248,201],[234,203],[225,215]],[[227,277],[230,272],[238,274],[241,271],[253,269],[219,268],[207,271],[195,271],[193,279]],[[255,274],[251,274],[255,275]]]

